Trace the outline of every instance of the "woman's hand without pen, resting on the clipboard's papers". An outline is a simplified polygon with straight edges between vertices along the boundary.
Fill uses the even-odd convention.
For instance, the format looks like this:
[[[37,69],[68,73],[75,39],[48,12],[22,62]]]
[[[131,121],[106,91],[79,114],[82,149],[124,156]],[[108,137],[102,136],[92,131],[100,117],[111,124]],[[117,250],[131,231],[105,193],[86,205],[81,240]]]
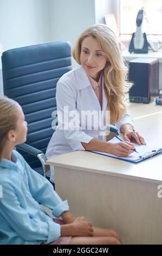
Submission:
[[[137,131],[133,130],[132,125],[124,124],[121,126],[120,131],[123,134],[124,141],[131,142],[131,139],[134,139],[137,144],[146,145],[144,138]]]

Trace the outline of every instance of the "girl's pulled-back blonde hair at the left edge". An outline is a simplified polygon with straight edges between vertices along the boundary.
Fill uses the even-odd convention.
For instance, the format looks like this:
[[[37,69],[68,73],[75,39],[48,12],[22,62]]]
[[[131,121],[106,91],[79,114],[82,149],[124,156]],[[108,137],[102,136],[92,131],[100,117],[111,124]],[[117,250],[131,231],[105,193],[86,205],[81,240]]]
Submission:
[[[16,130],[18,115],[16,111],[17,102],[8,97],[0,97],[0,162],[2,151],[7,141],[7,133]]]

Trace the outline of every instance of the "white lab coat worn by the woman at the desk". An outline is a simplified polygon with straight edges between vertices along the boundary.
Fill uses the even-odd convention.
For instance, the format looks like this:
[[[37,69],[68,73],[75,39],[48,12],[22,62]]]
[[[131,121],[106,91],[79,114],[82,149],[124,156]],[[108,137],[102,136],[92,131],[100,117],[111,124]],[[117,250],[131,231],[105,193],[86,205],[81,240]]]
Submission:
[[[64,74],[57,82],[56,87],[56,103],[57,110],[63,113],[64,106],[68,106],[69,111],[76,111],[80,114],[81,111],[101,111],[101,106],[98,98],[90,84],[89,78],[82,68],[77,68]],[[107,97],[103,89],[102,79],[102,111],[107,109]],[[85,150],[81,142],[89,143],[91,139],[100,136],[100,130],[88,130],[85,123],[81,123],[80,118],[76,122],[80,127],[77,130],[56,130],[50,139],[46,156],[50,157],[70,153],[76,150]],[[134,126],[133,118],[126,111],[125,117],[122,118],[115,126],[120,131],[123,124],[131,124]],[[81,126],[82,125],[82,126]],[[79,130],[78,130],[79,129]],[[50,180],[54,182],[53,170],[51,168]]]

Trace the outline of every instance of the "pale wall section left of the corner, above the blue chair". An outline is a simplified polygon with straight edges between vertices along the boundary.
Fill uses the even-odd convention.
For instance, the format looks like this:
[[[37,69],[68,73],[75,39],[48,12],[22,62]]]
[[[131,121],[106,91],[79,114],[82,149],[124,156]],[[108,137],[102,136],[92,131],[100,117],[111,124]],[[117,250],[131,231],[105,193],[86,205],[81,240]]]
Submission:
[[[49,37],[49,0],[0,0],[0,44],[3,51],[43,44],[49,41]]]

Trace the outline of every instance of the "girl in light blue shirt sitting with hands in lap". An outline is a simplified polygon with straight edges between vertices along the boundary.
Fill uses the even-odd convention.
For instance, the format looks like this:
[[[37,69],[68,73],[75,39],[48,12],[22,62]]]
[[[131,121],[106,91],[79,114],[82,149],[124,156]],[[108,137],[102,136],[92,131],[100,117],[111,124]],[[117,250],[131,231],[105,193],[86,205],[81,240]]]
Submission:
[[[92,227],[83,217],[74,218],[50,182],[30,168],[14,150],[26,141],[27,122],[22,108],[0,97],[0,244],[120,244],[112,229]],[[53,219],[40,204],[53,211]]]

